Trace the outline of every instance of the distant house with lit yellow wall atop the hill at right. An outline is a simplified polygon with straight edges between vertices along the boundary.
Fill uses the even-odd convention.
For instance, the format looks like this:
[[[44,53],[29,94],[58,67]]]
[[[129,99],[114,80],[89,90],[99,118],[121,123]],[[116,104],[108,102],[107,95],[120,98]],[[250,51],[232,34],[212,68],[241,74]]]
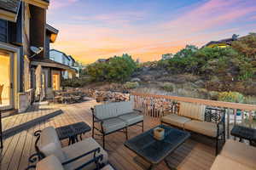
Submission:
[[[214,48],[214,47],[219,47],[219,48],[226,48],[229,47],[231,45],[231,43],[233,41],[236,41],[238,39],[238,35],[233,34],[232,37],[230,38],[225,38],[225,39],[221,39],[218,41],[211,41],[211,42],[207,42],[206,45],[204,45],[202,48],[207,47],[207,48]]]

